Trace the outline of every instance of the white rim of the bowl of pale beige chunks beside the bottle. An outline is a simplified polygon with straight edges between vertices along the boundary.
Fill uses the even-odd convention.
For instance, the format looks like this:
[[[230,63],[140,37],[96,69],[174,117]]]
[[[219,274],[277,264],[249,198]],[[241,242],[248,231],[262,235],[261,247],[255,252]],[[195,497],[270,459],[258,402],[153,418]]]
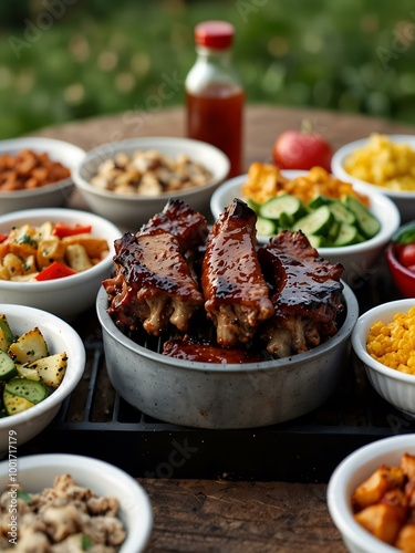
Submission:
[[[214,154],[217,159],[220,159],[221,161],[221,170],[217,174],[214,175],[212,178],[206,182],[205,185],[197,186],[194,188],[188,188],[185,190],[178,190],[177,194],[172,194],[170,192],[163,192],[158,194],[157,196],[139,196],[137,194],[123,194],[123,195],[117,195],[112,191],[97,188],[96,186],[91,185],[82,175],[84,166],[96,158],[100,157],[100,155],[103,155],[103,160],[108,159],[111,156],[107,156],[106,154],[111,152],[113,155],[117,152],[123,152],[123,150],[134,150],[138,147],[143,147],[146,144],[152,144],[153,147],[158,147],[163,148],[164,145],[169,146],[170,144],[177,145],[177,148],[179,152],[180,144],[184,146],[190,145],[194,147],[199,147],[204,148],[205,152],[209,152]],[[80,190],[93,194],[94,196],[98,196],[101,198],[106,198],[106,199],[112,199],[112,200],[117,200],[117,201],[139,201],[144,204],[151,204],[152,201],[155,200],[164,200],[167,201],[172,197],[183,197],[187,198],[188,196],[191,196],[196,192],[201,192],[201,191],[208,191],[209,189],[216,187],[219,182],[221,182],[227,175],[229,174],[230,169],[230,161],[229,158],[224,154],[219,148],[216,146],[212,146],[211,144],[201,142],[201,140],[195,140],[193,138],[179,138],[179,137],[174,137],[174,136],[147,136],[147,137],[137,137],[137,138],[125,138],[120,142],[114,142],[114,143],[106,143],[102,144],[86,153],[86,156],[84,159],[73,169],[73,180],[75,182],[75,187],[77,187]]]

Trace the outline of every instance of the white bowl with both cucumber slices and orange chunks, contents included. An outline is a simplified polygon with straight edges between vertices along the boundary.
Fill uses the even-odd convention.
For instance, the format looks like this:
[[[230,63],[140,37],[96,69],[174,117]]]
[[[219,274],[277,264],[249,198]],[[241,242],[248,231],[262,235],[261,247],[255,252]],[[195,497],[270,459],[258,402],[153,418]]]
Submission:
[[[215,190],[214,218],[234,198],[256,211],[258,242],[268,242],[282,229],[301,229],[322,258],[342,263],[342,278],[352,288],[373,273],[401,221],[390,198],[338,179],[322,167],[280,170],[272,164],[253,163],[247,175]]]

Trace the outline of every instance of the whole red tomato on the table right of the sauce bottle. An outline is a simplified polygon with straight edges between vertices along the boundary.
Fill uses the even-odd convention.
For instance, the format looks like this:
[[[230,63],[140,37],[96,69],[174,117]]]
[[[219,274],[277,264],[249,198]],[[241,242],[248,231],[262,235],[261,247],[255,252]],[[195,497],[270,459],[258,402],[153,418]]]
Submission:
[[[313,131],[286,131],[274,142],[273,163],[280,169],[303,169],[320,166],[331,171],[333,150],[328,140]]]

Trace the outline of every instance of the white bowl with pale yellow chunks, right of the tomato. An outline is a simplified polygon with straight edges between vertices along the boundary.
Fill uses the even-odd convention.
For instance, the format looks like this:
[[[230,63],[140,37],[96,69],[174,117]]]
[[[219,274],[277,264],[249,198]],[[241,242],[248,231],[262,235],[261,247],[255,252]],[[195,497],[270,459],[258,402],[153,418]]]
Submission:
[[[415,135],[382,135],[354,140],[339,148],[332,173],[363,190],[376,190],[397,206],[402,222],[415,212]]]

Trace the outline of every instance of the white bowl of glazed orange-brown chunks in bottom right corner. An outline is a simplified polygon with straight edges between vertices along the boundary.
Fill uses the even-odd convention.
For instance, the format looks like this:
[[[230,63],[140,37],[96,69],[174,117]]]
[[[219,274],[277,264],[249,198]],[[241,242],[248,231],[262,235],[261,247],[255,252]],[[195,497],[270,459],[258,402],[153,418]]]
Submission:
[[[415,434],[380,439],[333,471],[328,507],[351,553],[414,551]]]

